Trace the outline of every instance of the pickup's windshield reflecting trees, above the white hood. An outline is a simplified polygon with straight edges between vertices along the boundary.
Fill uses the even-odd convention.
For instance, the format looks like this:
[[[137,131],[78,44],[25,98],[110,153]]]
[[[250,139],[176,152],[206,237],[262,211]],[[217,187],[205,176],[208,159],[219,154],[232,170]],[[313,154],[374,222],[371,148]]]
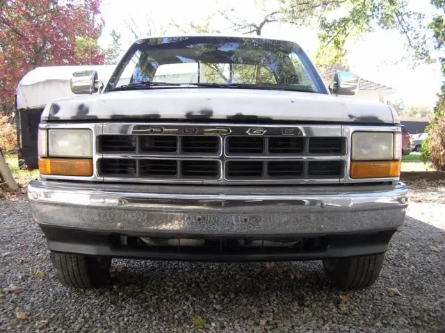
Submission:
[[[140,40],[118,65],[107,90],[190,87],[325,92],[297,44],[218,37]]]

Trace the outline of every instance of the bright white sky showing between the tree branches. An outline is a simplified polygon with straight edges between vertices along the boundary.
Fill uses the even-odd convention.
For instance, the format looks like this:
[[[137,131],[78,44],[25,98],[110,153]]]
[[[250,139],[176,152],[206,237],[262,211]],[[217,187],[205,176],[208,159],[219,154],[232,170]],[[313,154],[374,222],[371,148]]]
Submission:
[[[434,8],[429,0],[410,0],[410,7],[432,15]],[[122,48],[127,49],[134,41],[127,27],[131,20],[140,31],[147,31],[146,22],[152,22],[155,35],[165,29],[168,35],[179,33],[171,22],[187,26],[188,22],[198,24],[215,13],[217,8],[235,8],[236,13],[248,21],[258,19],[260,13],[254,10],[251,0],[103,0],[101,11],[105,22],[102,47],[111,42],[109,33],[115,29],[122,35]],[[227,26],[223,19],[213,17],[211,25],[217,28]],[[225,30],[229,34],[230,30]],[[300,44],[314,59],[318,47],[316,29],[299,30],[288,24],[267,24],[261,35],[266,38],[292,40]],[[389,99],[403,99],[405,104],[434,106],[442,84],[442,73],[438,63],[421,64],[412,68],[409,61],[401,61],[406,56],[401,35],[396,31],[377,30],[366,33],[359,40],[348,43],[348,65],[362,79],[375,81],[394,88],[396,92]]]

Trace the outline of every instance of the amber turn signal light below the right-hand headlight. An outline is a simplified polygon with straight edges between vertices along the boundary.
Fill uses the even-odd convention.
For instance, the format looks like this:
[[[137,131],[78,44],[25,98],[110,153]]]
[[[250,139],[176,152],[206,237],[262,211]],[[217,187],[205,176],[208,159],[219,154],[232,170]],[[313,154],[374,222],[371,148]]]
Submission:
[[[401,161],[359,161],[350,163],[351,178],[385,178],[401,175]]]

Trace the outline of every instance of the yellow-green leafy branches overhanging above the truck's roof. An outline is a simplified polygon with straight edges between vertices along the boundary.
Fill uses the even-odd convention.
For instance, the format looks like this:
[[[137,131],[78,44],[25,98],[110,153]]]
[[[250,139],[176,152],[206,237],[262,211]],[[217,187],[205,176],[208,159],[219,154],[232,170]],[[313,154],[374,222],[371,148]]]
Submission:
[[[218,10],[227,29],[245,35],[261,35],[264,27],[277,22],[299,28],[318,27],[317,62],[345,63],[346,42],[381,28],[396,30],[405,39],[407,54],[414,60],[431,61],[423,16],[410,10],[407,0],[250,0],[257,18],[248,21],[235,8]],[[444,1],[444,0],[435,0]],[[332,18],[334,17],[334,18]],[[200,31],[204,28],[204,31]],[[188,31],[211,32],[209,20],[189,24]]]

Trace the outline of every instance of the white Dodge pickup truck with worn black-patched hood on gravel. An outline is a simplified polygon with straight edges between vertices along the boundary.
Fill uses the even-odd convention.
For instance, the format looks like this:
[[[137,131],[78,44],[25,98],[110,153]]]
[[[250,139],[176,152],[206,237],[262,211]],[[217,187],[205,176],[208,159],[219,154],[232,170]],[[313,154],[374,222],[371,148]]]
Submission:
[[[101,286],[112,258],[323,260],[330,281],[377,279],[408,204],[394,110],[329,87],[293,42],[136,41],[111,78],[75,72],[38,130],[28,188],[56,275]]]

